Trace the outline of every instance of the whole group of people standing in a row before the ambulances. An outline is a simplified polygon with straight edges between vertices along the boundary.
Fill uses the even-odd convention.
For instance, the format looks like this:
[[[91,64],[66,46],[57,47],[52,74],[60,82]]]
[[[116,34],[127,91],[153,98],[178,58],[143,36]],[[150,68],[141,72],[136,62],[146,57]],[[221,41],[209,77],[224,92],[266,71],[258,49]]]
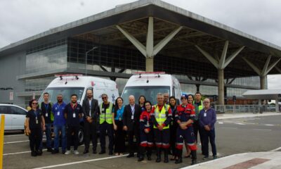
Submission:
[[[125,152],[125,140],[129,144],[129,155],[134,157],[137,153],[138,161],[143,161],[145,153],[148,161],[152,160],[152,149],[156,146],[157,158],[164,163],[171,161],[182,163],[183,146],[187,149],[186,157],[192,158],[192,164],[197,163],[197,133],[200,133],[202,154],[204,159],[209,157],[209,139],[213,156],[216,158],[216,144],[214,142],[216,112],[210,107],[209,99],[202,101],[201,94],[193,96],[183,94],[182,104],[177,105],[177,99],[169,94],[157,94],[157,104],[152,105],[145,96],[138,98],[129,96],[129,104],[123,105],[123,98],[118,97],[115,103],[108,101],[107,94],[102,94],[103,103],[93,99],[93,91],[86,91],[83,106],[77,103],[77,95],[72,94],[71,102],[65,104],[63,96],[58,94],[58,102],[48,102],[48,93],[44,93],[44,101],[38,106],[35,99],[30,101],[32,108],[27,113],[27,132],[30,133],[30,149],[32,156],[42,154],[41,139],[43,131],[46,132],[47,151],[52,154],[59,153],[59,137],[62,138],[62,153],[70,154],[70,146],[74,146],[74,154],[79,154],[78,132],[81,118],[84,120],[85,149],[89,153],[92,141],[92,153],[97,154],[97,132],[100,131],[100,152],[105,154],[105,136],[108,136],[108,154],[116,156]],[[51,125],[54,128],[54,146],[51,147]]]

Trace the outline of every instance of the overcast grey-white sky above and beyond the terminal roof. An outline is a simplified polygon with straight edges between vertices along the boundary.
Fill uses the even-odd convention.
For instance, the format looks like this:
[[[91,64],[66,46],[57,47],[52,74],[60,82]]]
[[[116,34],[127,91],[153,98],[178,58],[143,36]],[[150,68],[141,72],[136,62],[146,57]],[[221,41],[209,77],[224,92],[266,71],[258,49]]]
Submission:
[[[280,0],[164,0],[281,46]],[[0,48],[130,0],[0,0]],[[268,88],[281,88],[281,75]]]

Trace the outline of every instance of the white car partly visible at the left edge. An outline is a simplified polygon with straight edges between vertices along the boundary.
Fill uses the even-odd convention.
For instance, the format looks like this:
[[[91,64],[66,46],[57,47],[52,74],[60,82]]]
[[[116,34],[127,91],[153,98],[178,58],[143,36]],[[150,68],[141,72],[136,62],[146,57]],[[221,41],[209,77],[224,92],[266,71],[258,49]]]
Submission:
[[[5,115],[5,130],[25,130],[27,110],[13,104],[0,104],[0,115]]]

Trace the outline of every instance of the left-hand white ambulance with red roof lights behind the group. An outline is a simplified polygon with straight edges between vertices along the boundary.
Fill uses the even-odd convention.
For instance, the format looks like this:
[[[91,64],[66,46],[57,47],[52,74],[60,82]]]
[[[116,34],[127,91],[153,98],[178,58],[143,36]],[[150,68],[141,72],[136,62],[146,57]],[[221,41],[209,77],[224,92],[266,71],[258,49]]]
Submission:
[[[57,95],[63,94],[65,104],[70,103],[70,96],[77,94],[77,102],[83,103],[86,98],[86,90],[93,90],[93,98],[98,100],[98,104],[103,101],[101,94],[107,94],[108,101],[115,103],[115,99],[119,96],[117,84],[115,81],[103,79],[100,77],[81,76],[79,74],[56,75],[55,78],[44,92],[50,94],[49,101],[53,104],[57,102]],[[43,101],[43,94],[39,99],[39,103]],[[82,106],[82,105],[81,105]]]

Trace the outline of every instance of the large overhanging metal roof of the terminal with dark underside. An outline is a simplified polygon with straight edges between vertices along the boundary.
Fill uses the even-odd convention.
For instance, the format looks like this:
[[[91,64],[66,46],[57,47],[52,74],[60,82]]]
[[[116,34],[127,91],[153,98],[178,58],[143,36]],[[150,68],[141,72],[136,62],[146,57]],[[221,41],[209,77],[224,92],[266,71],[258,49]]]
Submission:
[[[280,46],[159,0],[141,0],[116,6],[103,13],[52,28],[5,46],[0,49],[0,57],[16,51],[24,51],[37,44],[46,44],[67,37],[136,49],[116,26],[122,27],[145,45],[149,17],[154,18],[155,43],[160,42],[177,27],[182,27],[176,36],[159,51],[160,55],[188,59],[208,68],[207,72],[217,70],[196,46],[200,46],[218,59],[226,41],[229,42],[228,53],[230,54],[245,46],[225,68],[225,79],[257,75],[242,58],[247,58],[247,61],[255,63],[256,67],[261,70],[268,61],[268,57],[271,58],[269,64],[275,63],[281,58]],[[281,63],[277,63],[275,67],[277,68],[271,69],[268,74],[279,74],[280,69],[278,68],[281,68]],[[193,75],[204,77],[204,74],[194,73]],[[217,79],[217,75],[215,73],[207,78]]]

